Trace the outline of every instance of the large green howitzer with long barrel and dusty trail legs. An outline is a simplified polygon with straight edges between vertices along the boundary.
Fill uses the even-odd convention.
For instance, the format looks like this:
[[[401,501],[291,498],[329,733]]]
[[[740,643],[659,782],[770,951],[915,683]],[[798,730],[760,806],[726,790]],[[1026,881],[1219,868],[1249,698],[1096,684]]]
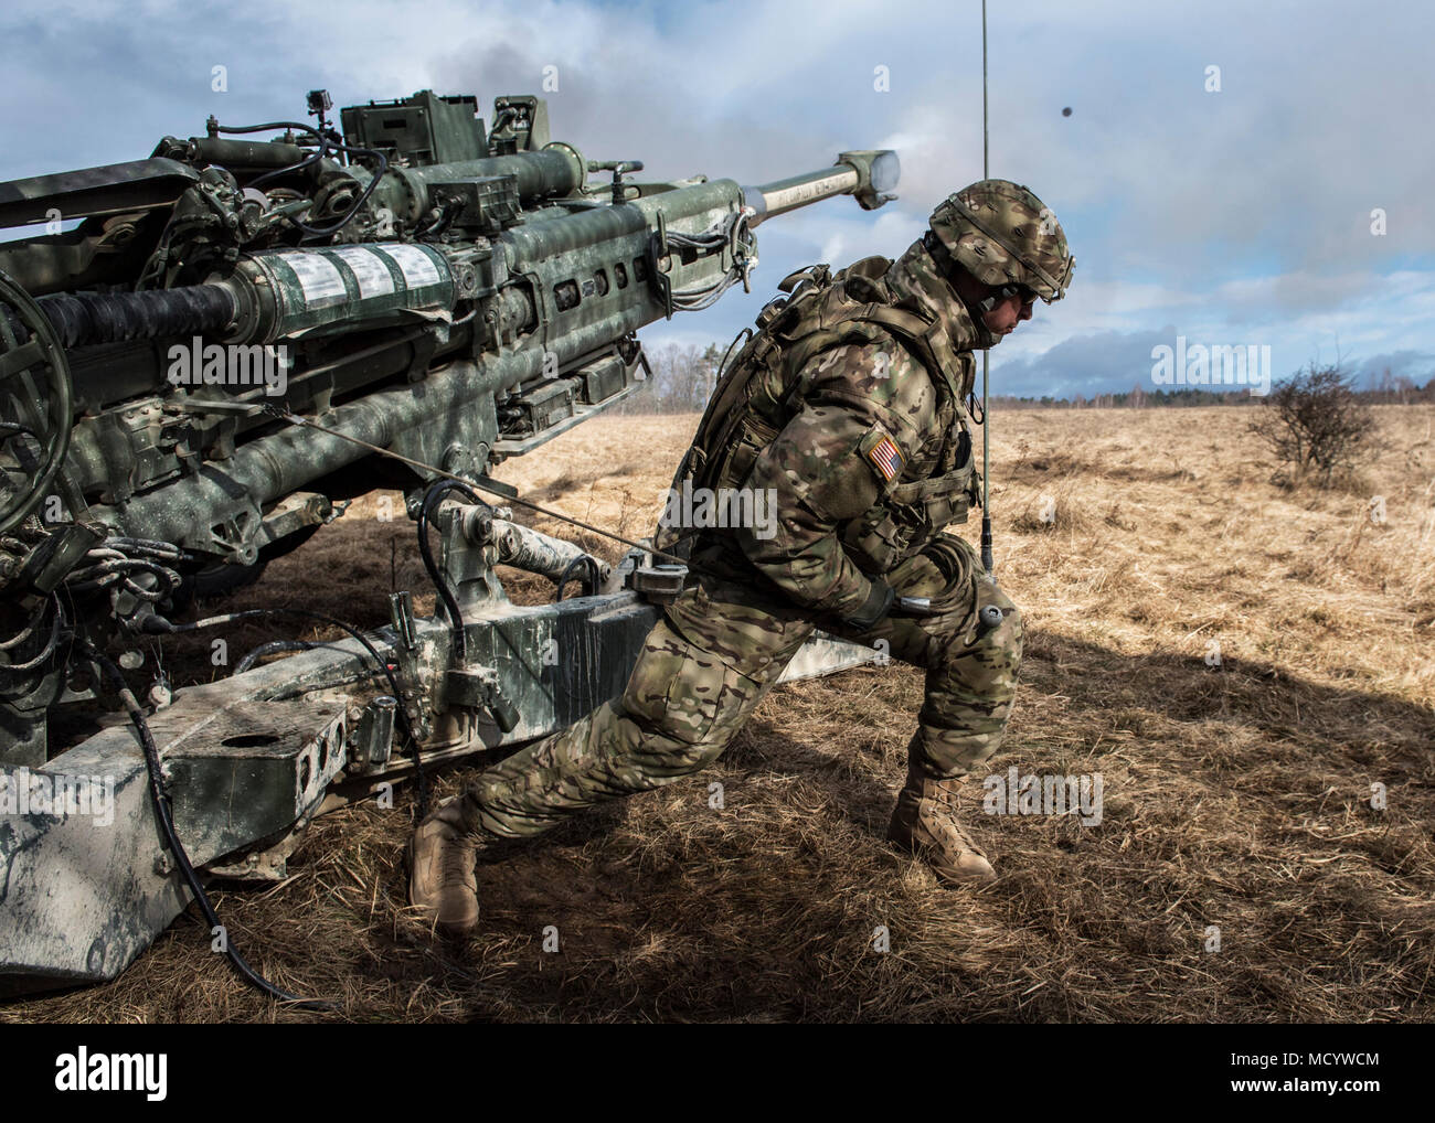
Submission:
[[[0,992],[113,978],[185,906],[185,853],[280,878],[321,809],[618,694],[682,568],[515,522],[489,470],[637,389],[634,333],[746,285],[761,222],[897,181],[894,153],[848,152],[758,188],[629,182],[640,162],[550,141],[528,96],[488,131],[468,96],[353,106],[342,132],[329,109],[0,184],[0,227],[49,224],[0,244]],[[399,592],[390,627],[169,697],[142,650],[207,625],[182,622],[195,589],[383,486],[442,612]],[[514,605],[499,565],[555,601]],[[819,641],[789,677],[862,658]],[[102,709],[129,720],[62,736]]]

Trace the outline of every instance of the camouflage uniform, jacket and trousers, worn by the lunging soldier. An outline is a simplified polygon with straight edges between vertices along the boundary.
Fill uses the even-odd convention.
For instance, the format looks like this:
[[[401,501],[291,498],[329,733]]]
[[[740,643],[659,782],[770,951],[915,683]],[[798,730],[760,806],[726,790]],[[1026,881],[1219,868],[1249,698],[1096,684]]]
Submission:
[[[943,208],[973,202],[971,191]],[[1026,208],[1020,221],[1040,221],[1030,192],[1015,204],[1003,199]],[[1059,298],[1069,264],[1062,237],[1059,258],[1046,262],[1066,265],[1055,285],[1040,268],[1036,275],[1009,268],[980,229],[973,237],[973,224],[943,229],[943,208],[933,215],[940,241],[928,235],[895,262],[867,258],[831,285],[809,287],[812,301],[827,301],[812,304],[817,323],[839,320],[832,308],[842,300],[897,308],[924,328],[927,350],[903,333],[848,323],[812,336],[817,350],[795,371],[798,347],[786,366],[751,380],[706,482],[766,491],[776,536],[763,539],[751,526],[699,534],[690,554],[696,585],[666,608],[623,696],[479,774],[443,813],[452,829],[535,835],[583,807],[700,770],[818,625],[926,668],[910,786],[960,777],[996,752],[1016,691],[1022,618],[971,546],[943,532],[966,521],[977,498],[963,399],[973,383],[971,351],[994,338],[943,275],[951,262],[941,255],[951,252],[984,284],[1022,283],[1046,298],[1052,291]],[[1012,215],[1004,218],[1010,225]],[[792,301],[802,293],[798,287]],[[733,367],[761,351],[762,338]],[[832,338],[835,346],[824,346]],[[938,598],[943,611],[884,615],[888,588]],[[979,624],[989,605],[1002,611],[994,627]],[[854,622],[874,617],[881,618]]]

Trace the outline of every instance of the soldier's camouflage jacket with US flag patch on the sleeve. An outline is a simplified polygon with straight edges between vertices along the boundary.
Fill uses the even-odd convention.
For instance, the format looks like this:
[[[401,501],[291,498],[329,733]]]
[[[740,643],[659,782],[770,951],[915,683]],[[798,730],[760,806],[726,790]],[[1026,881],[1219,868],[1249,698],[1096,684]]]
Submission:
[[[971,350],[993,338],[920,241],[895,262],[864,258],[831,284],[818,267],[784,287],[799,277],[759,317],[679,478],[762,492],[775,509],[775,536],[703,531],[700,568],[847,617],[977,502],[963,399]]]

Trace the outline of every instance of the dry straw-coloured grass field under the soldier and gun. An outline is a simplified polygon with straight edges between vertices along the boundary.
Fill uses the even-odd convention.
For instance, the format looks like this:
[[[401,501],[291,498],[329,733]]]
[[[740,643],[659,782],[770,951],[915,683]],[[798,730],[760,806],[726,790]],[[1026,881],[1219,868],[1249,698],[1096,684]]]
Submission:
[[[1105,809],[986,816],[967,785],[989,888],[943,891],[884,843],[921,674],[867,667],[775,690],[707,773],[485,853],[458,947],[405,912],[412,793],[320,819],[288,881],[215,902],[251,962],[339,1014],[247,990],[191,911],[116,982],[0,1020],[1429,1021],[1435,407],[1378,409],[1385,450],[1329,492],[1270,483],[1247,416],[997,414],[997,575],[1027,648],[992,772],[1099,773]],[[499,475],[646,534],[695,422],[597,420]],[[225,607],[385,622],[395,582],[426,585],[396,509],[366,498]]]

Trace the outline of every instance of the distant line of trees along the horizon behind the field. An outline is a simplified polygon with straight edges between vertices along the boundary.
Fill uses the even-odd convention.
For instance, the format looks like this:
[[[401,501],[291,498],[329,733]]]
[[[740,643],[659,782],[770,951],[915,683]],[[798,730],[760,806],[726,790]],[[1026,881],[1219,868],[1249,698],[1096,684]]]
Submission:
[[[718,370],[723,360],[725,346],[709,343],[706,347],[679,346],[670,343],[647,350],[653,377],[637,393],[617,406],[621,413],[700,413],[718,384]],[[1280,383],[1277,383],[1279,386]],[[980,380],[977,382],[980,393]],[[1350,389],[1355,400],[1365,404],[1409,406],[1419,402],[1435,403],[1435,379],[1418,386],[1403,374],[1386,369],[1372,380],[1365,390]],[[1105,393],[1085,397],[1017,397],[993,394],[993,409],[1161,409],[1180,406],[1260,406],[1266,396],[1253,394],[1248,386],[1233,387],[1225,393],[1182,387],[1167,390],[1144,389],[1139,383],[1125,393]]]

